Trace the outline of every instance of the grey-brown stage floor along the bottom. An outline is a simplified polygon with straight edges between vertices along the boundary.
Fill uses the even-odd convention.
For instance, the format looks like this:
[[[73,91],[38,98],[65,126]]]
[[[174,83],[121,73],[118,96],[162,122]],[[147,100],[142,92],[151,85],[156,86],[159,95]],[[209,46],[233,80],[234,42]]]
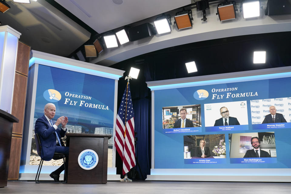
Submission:
[[[252,178],[251,176],[249,177]],[[33,181],[8,182],[0,188],[0,193],[215,193],[245,194],[259,192],[264,194],[289,194],[291,183],[281,182],[189,182],[189,181],[109,181],[107,184],[62,184]]]

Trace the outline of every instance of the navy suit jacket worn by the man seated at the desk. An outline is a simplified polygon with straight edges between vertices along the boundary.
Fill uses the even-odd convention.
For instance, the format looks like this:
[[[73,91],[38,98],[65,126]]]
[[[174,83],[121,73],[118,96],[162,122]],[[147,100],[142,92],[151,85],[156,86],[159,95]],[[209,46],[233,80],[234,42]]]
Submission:
[[[54,121],[52,121],[53,124],[55,124]],[[60,142],[63,146],[62,137],[65,136],[66,131],[62,129],[56,129],[54,127],[51,127],[49,124],[48,119],[45,118],[45,115],[38,118],[35,122],[35,129],[34,132],[38,133],[41,146],[42,146],[42,152],[41,152],[41,158],[43,160],[49,161],[52,159],[52,156],[55,153],[55,146],[56,146],[56,135],[55,131],[58,133]]]

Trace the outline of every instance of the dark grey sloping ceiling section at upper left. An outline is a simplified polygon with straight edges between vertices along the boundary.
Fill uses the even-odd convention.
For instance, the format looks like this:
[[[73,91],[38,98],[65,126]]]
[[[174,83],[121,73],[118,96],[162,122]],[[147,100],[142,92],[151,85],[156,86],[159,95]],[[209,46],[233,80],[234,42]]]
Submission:
[[[0,13],[1,25],[20,32],[20,40],[34,50],[68,56],[90,38],[87,30],[44,0],[31,4],[6,2],[11,8]]]

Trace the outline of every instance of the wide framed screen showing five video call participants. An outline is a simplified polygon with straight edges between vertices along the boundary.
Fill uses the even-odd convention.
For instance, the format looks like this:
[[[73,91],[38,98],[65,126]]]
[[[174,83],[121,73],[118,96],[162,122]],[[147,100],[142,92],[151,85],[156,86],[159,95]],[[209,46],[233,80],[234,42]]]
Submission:
[[[147,84],[148,180],[291,181],[290,67]]]

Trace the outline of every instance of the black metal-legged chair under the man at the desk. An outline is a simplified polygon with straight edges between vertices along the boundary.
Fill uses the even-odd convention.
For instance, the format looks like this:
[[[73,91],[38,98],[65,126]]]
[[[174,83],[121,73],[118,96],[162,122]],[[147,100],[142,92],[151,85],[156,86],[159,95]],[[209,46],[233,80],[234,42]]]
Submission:
[[[40,140],[39,140],[39,137],[38,137],[37,133],[34,134],[34,138],[35,138],[35,145],[36,145],[37,154],[38,154],[38,156],[41,157],[42,146],[40,144]],[[52,159],[54,159],[54,160],[63,159],[64,164],[65,164],[65,154],[54,153],[54,156],[52,157]],[[64,180],[63,181],[55,182],[55,181],[40,181],[40,180],[38,180],[39,179],[39,175],[40,175],[40,171],[42,170],[42,163],[43,163],[43,159],[41,158],[41,160],[39,162],[39,165],[38,165],[37,172],[36,172],[36,176],[35,176],[35,183],[66,183],[67,182],[66,169],[65,169],[65,176],[64,176]]]

